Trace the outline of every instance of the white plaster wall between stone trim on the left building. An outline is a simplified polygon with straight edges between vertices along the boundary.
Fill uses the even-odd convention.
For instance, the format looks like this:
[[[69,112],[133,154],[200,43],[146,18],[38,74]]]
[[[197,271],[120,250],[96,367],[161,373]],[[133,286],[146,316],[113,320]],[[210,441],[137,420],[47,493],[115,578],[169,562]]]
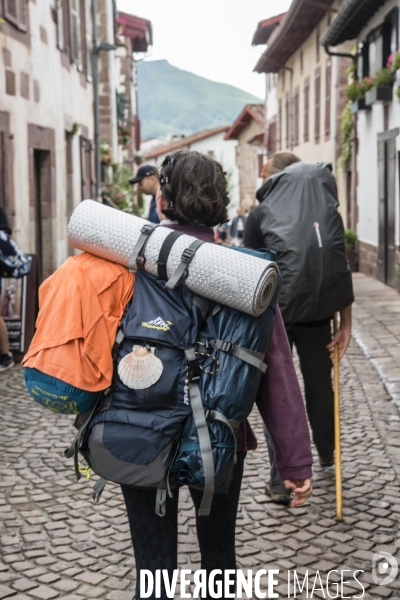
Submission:
[[[5,91],[5,67],[0,61],[0,110],[10,115],[10,132],[14,144],[14,236],[25,252],[34,252],[32,215],[29,196],[29,150],[28,124],[49,127],[55,130],[55,248],[56,263],[60,265],[67,258],[67,219],[66,219],[66,151],[65,131],[71,130],[73,123],[85,125],[89,137],[93,139],[93,90],[92,85],[81,84],[80,73],[75,65],[68,71],[61,65],[60,51],[57,48],[56,26],[51,17],[53,2],[41,0],[29,2],[29,35],[31,47],[13,37],[0,33],[0,57],[6,48],[12,55],[11,70],[16,76],[16,95]],[[40,38],[40,26],[47,33],[47,44]],[[91,27],[88,23],[87,27]],[[29,75],[29,100],[21,96],[21,72]],[[40,86],[40,102],[35,102],[33,81]],[[73,139],[74,161],[74,203],[80,201],[80,158],[79,132]]]

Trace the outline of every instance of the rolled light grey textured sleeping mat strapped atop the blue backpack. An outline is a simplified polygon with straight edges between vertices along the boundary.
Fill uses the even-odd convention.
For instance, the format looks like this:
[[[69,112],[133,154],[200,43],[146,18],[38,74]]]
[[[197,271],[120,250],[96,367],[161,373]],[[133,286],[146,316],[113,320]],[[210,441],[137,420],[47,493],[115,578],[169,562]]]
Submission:
[[[73,248],[129,267],[144,225],[149,221],[95,202],[84,200],[72,213],[68,241]],[[166,238],[174,234],[168,227],[156,227],[144,249],[144,269],[158,276],[158,258]],[[172,238],[173,239],[173,238]],[[182,234],[173,243],[167,260],[168,279],[181,264],[183,252],[196,241]],[[276,263],[226,246],[203,243],[197,248],[188,274],[188,289],[209,300],[257,317],[268,307],[278,277]]]

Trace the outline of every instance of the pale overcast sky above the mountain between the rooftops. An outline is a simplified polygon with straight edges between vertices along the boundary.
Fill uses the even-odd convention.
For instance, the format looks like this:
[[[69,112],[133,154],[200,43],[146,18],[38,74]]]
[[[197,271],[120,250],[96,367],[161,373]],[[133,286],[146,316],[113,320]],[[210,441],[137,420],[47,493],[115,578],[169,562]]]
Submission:
[[[287,10],[290,0],[117,0],[124,12],[150,19],[154,46],[146,60],[235,85],[264,98],[264,75],[253,73],[265,49],[251,46],[258,21]]]

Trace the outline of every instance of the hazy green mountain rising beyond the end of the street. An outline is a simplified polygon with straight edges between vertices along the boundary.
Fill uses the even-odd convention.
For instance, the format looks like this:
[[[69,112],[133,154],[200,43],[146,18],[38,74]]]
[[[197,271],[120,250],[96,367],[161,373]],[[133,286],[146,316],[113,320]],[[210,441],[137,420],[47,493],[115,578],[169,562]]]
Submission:
[[[262,102],[239,88],[183,71],[166,60],[139,62],[137,70],[142,140],[230,125],[245,104]]]

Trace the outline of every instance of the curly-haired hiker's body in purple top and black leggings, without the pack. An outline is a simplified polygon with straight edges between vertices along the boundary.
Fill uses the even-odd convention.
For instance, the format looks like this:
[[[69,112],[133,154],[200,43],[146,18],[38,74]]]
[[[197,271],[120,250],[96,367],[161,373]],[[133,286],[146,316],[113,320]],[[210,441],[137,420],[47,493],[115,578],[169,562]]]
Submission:
[[[213,243],[212,227],[227,220],[229,198],[223,169],[212,158],[197,152],[176,152],[163,163],[156,201],[161,226]],[[304,405],[279,309],[265,363],[268,369],[261,379],[256,403],[278,449],[277,462],[285,485],[294,490],[292,506],[299,506],[311,493],[312,461]],[[228,382],[229,374],[225,377]],[[214,495],[208,517],[198,515],[203,492],[189,487],[197,513],[201,568],[208,573],[214,569],[236,569],[235,522],[244,460],[247,451],[256,447],[255,435],[246,420],[239,429],[237,462],[229,492]],[[177,568],[178,490],[172,497],[167,496],[162,518],[154,512],[155,490],[127,485],[122,490],[135,552],[139,598],[141,569],[153,573],[167,569],[171,577]],[[161,597],[167,597],[165,590]]]

